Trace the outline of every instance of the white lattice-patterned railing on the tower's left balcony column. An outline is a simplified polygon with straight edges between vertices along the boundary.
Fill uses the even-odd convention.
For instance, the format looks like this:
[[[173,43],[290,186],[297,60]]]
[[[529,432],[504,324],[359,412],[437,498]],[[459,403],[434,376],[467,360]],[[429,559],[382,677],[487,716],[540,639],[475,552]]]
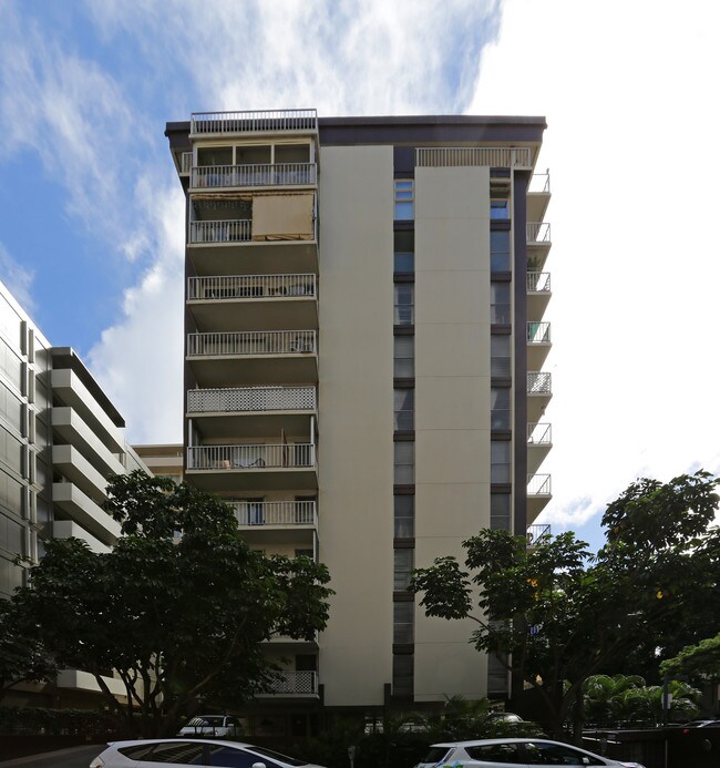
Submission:
[[[187,391],[188,413],[253,413],[315,408],[315,387],[239,387]]]

